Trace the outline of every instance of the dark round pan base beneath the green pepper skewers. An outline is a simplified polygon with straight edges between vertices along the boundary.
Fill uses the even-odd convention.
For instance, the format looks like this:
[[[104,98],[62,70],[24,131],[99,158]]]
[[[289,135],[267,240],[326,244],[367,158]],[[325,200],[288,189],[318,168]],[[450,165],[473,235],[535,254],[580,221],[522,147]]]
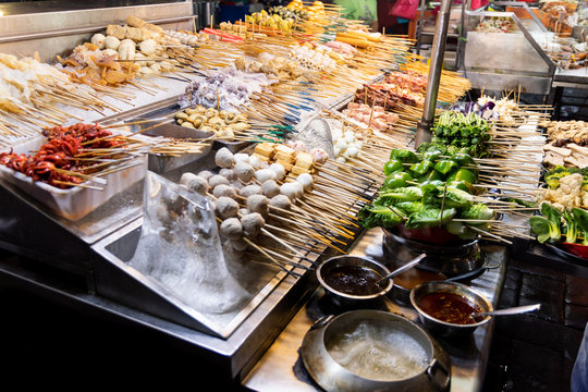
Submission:
[[[439,245],[406,238],[399,230],[383,229],[383,245],[390,256],[397,262],[404,262],[425,253],[427,257],[418,268],[441,272],[451,278],[482,268],[486,255],[478,240],[461,241],[451,245]]]

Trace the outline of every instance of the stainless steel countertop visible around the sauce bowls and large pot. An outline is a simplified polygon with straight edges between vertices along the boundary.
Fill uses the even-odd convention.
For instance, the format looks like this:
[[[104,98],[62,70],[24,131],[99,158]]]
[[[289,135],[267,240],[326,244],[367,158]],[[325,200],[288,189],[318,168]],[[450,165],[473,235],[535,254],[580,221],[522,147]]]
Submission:
[[[380,261],[384,258],[382,249],[382,232],[380,229],[366,231],[350,252],[352,255],[367,255]],[[474,289],[482,292],[495,307],[503,285],[506,252],[498,245],[485,246],[490,264],[499,267],[487,269],[470,281]],[[317,318],[316,305],[324,292],[319,287],[286,326],[253,370],[243,384],[253,391],[305,392],[320,390],[305,371],[299,360],[298,350],[304,335]],[[415,321],[417,314],[407,306],[401,306],[387,298],[387,308]],[[490,344],[492,340],[493,320],[478,328],[468,340],[455,342],[439,341],[452,362],[451,391],[479,391],[483,383]]]

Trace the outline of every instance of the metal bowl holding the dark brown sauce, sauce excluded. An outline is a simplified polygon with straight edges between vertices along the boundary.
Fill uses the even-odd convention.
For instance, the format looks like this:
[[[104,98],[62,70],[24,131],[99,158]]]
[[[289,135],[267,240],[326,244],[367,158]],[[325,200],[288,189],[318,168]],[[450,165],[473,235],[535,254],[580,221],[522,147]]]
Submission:
[[[365,267],[380,277],[388,275],[391,271],[383,266],[382,264],[372,260],[367,257],[359,256],[335,256],[324,260],[317,268],[317,279],[319,283],[324,287],[327,293],[339,304],[339,305],[358,305],[364,302],[372,301],[382,297],[392,289],[394,282],[392,279],[388,280],[387,285],[382,285],[382,290],[370,295],[360,295],[360,294],[350,294],[341,292],[326,281],[330,273],[332,273],[336,268],[341,267]]]

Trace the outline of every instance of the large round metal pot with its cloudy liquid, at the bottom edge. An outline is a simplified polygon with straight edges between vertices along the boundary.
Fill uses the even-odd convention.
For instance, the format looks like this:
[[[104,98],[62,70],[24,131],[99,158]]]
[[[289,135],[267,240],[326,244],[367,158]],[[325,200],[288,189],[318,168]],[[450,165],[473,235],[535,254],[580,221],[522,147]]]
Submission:
[[[369,366],[373,345],[367,344],[365,347],[370,351],[370,355],[362,356],[365,354],[363,343],[370,339],[369,332],[366,335],[362,333],[370,329],[379,331],[383,336],[395,336],[394,340],[404,343],[402,350],[397,350],[396,345],[393,347],[395,350],[389,347],[392,348],[389,352],[387,342],[382,342],[388,339],[377,338],[383,344],[377,348],[381,350],[379,353],[388,353],[389,356],[383,357],[396,365],[393,370],[387,369],[367,377],[367,372],[373,370]],[[358,331],[362,332],[358,334]],[[350,347],[348,353],[345,352],[350,356],[348,362],[341,356],[345,347]],[[354,360],[355,356],[363,359]],[[301,357],[313,379],[329,392],[446,391],[451,382],[451,360],[429,334],[404,317],[382,310],[352,310],[319,319],[304,336]],[[368,369],[353,367],[358,364],[367,364]],[[406,365],[402,366],[403,375],[399,373],[399,364]]]

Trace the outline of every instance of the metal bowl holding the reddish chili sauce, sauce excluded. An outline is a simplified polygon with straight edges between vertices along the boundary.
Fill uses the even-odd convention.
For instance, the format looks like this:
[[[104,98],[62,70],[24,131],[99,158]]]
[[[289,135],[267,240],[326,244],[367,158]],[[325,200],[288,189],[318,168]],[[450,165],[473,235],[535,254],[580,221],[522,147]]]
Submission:
[[[482,311],[492,311],[493,306],[483,294],[466,284],[456,282],[426,282],[419,284],[411,291],[411,304],[418,311],[418,319],[422,326],[436,336],[450,339],[466,336],[491,319],[490,316],[487,316],[479,322],[468,324],[458,324],[436,319],[419,307],[420,299],[425,295],[431,293],[453,293],[463,295],[471,303],[477,304]]]

